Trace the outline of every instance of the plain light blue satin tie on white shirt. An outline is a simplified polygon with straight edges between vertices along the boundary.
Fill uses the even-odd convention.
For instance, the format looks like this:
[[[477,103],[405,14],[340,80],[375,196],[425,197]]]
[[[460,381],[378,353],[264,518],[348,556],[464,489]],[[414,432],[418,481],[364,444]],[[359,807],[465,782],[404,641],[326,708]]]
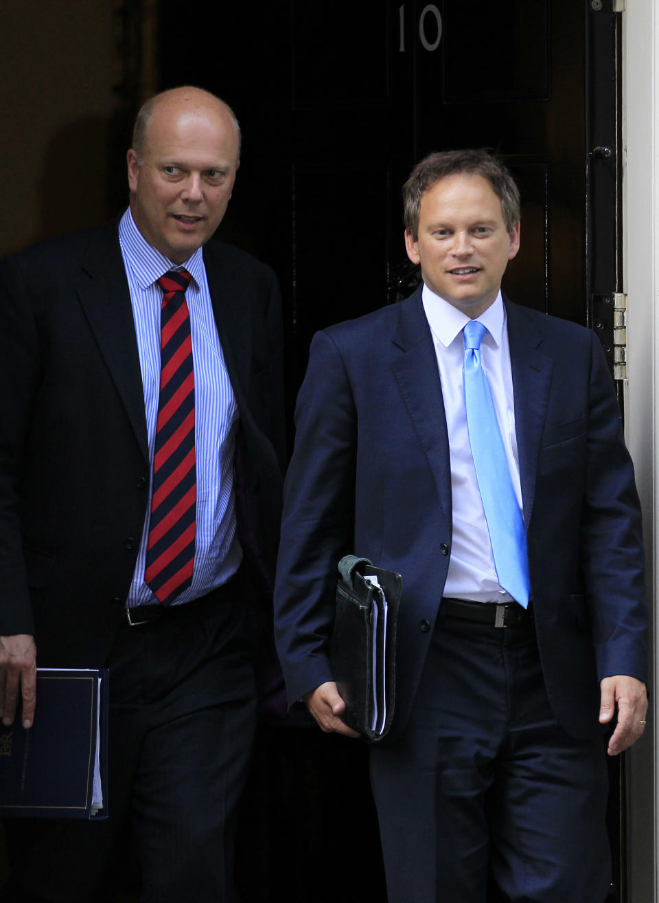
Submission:
[[[488,377],[481,365],[487,332],[477,320],[464,327],[464,404],[471,456],[476,468],[499,585],[526,609],[529,599],[524,520],[517,505]]]

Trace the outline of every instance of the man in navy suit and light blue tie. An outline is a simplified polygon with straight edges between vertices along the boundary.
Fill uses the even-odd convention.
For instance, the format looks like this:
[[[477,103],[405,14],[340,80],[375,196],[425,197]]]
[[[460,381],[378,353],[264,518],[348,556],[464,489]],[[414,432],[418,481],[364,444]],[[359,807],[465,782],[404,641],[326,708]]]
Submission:
[[[505,168],[432,154],[404,195],[424,285],[316,334],[297,401],[275,591],[288,697],[354,735],[328,657],[336,563],[400,573],[395,720],[371,748],[389,903],[481,903],[490,870],[509,900],[602,903],[605,750],[646,709],[616,396],[592,332],[500,293],[520,236]]]

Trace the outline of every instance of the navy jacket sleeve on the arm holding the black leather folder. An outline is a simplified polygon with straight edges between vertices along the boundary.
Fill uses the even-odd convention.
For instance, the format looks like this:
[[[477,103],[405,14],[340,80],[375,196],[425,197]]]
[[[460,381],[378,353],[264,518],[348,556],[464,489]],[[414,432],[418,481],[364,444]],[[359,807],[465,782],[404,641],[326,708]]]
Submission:
[[[337,564],[352,551],[356,411],[334,341],[316,334],[296,408],[275,589],[275,636],[288,701],[332,680]]]

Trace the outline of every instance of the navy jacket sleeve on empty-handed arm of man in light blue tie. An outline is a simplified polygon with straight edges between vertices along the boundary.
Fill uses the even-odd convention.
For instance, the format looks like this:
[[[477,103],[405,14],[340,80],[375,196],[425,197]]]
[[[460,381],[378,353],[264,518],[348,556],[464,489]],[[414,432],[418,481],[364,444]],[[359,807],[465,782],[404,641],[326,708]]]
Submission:
[[[647,611],[634,469],[604,353],[591,338],[590,413],[581,567],[600,680],[646,681]]]

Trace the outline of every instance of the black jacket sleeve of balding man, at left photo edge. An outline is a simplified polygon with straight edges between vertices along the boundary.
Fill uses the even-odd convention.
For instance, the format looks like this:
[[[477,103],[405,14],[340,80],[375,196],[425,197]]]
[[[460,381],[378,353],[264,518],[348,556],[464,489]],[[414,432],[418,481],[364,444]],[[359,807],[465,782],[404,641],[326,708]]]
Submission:
[[[11,259],[0,264],[0,636],[34,633],[18,490],[39,379],[39,338]]]

